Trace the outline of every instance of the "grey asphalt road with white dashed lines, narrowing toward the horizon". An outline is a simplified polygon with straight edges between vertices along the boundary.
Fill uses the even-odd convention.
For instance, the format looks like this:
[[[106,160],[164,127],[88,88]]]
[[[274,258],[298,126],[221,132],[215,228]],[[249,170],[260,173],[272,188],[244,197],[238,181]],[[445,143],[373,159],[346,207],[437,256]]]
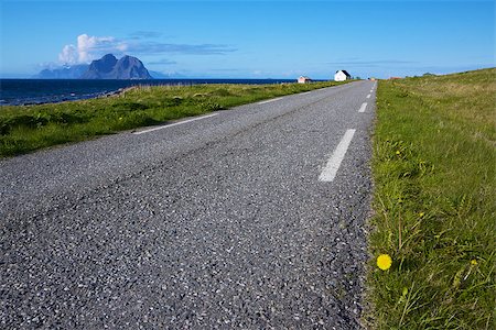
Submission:
[[[0,328],[358,329],[374,103],[358,81],[0,161]]]

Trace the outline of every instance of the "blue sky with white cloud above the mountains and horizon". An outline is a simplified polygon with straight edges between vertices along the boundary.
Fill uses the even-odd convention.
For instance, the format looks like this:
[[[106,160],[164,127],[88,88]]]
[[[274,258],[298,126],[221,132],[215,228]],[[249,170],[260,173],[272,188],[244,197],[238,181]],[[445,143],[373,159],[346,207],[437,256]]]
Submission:
[[[139,57],[175,77],[331,78],[495,66],[488,1],[0,0],[0,77]]]

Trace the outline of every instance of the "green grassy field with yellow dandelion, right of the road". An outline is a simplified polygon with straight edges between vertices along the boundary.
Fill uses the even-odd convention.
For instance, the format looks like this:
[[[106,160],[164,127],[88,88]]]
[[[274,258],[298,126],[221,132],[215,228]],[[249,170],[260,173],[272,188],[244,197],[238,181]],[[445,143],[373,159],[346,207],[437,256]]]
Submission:
[[[379,82],[369,328],[496,329],[495,146],[495,68]]]

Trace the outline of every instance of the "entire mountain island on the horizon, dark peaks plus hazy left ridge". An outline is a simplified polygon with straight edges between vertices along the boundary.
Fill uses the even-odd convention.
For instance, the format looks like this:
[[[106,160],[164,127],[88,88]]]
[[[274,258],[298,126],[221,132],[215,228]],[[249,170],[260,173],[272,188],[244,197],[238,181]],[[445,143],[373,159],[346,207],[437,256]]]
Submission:
[[[44,69],[33,78],[37,79],[153,79],[143,63],[137,57],[123,56],[117,59],[107,54],[91,64]]]

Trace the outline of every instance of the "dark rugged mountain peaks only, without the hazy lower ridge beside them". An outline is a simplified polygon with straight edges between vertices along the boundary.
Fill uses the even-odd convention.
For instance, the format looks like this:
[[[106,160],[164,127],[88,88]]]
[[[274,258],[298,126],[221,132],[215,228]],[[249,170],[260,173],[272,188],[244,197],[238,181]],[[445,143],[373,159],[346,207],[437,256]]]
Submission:
[[[82,79],[153,79],[143,63],[132,56],[117,59],[107,54],[100,59],[91,62]]]

